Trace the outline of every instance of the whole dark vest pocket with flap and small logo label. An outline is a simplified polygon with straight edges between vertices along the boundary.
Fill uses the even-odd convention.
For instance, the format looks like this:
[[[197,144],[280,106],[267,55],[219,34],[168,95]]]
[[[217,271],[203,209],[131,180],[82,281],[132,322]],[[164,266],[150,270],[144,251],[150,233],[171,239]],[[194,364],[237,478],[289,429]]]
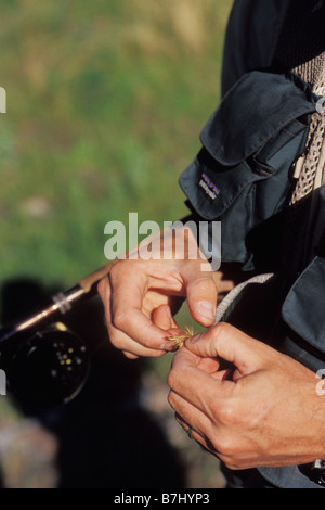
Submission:
[[[180,186],[199,217],[221,220],[223,262],[253,269],[247,235],[284,209],[289,169],[304,151],[314,111],[313,97],[296,77],[251,72],[208,120],[203,148]]]

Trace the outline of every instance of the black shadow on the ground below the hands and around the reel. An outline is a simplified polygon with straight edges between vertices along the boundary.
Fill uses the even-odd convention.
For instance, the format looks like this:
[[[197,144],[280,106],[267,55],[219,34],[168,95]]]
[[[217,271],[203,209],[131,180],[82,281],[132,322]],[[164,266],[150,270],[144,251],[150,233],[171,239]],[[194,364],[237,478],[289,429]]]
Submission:
[[[56,292],[28,279],[6,282],[1,323],[32,311]],[[78,303],[62,321],[92,353],[83,388],[55,409],[35,411],[17,403],[58,439],[57,487],[184,487],[184,467],[177,451],[141,406],[144,361],[129,360],[110,345],[100,298]]]

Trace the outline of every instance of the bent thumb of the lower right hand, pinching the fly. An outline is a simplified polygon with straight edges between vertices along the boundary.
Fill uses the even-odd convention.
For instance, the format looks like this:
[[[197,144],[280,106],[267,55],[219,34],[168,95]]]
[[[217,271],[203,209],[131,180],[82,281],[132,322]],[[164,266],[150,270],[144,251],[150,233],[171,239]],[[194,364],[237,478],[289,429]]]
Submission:
[[[222,358],[233,364],[240,375],[256,372],[268,359],[270,347],[226,322],[186,340],[186,347],[202,358]],[[265,358],[266,356],[266,358]]]

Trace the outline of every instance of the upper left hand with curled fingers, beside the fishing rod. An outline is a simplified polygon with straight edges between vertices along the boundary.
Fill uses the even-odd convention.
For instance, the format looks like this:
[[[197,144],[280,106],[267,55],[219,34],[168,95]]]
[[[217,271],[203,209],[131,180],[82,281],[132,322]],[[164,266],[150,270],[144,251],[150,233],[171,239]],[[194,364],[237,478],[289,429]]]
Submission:
[[[198,253],[191,232],[187,242]],[[220,272],[203,271],[202,256],[177,259],[174,255],[171,245],[169,259],[143,260],[140,256],[120,260],[99,284],[110,342],[129,358],[157,357],[174,349],[167,336],[177,328],[172,316],[185,298],[193,318],[202,326],[211,326],[217,284],[220,282],[221,291],[233,288],[232,281],[222,281]]]

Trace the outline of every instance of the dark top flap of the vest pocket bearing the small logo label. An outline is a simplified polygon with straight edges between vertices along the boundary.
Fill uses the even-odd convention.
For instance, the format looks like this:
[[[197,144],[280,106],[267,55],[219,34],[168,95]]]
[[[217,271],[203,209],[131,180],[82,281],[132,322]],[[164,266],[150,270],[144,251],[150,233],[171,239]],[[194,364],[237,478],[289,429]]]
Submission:
[[[314,111],[310,89],[298,77],[253,71],[225,94],[200,140],[222,165],[238,165],[283,127]]]

